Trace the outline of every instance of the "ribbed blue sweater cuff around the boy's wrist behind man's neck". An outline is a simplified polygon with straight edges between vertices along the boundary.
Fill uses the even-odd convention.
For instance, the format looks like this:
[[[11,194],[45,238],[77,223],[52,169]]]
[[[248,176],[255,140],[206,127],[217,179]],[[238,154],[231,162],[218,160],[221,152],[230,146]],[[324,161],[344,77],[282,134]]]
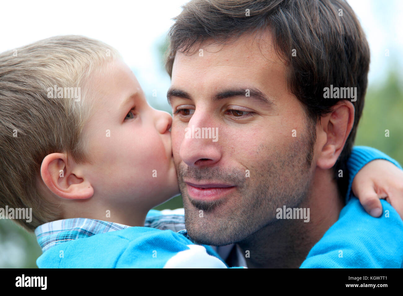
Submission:
[[[349,187],[347,189],[346,203],[351,199],[351,197],[353,197],[353,193],[351,192],[351,185],[353,184],[355,175],[366,164],[375,159],[385,159],[391,161],[398,168],[402,169],[400,164],[395,159],[389,157],[385,153],[382,153],[375,148],[366,146],[354,146],[353,151],[351,152],[351,155],[347,160],[347,169],[349,170]]]

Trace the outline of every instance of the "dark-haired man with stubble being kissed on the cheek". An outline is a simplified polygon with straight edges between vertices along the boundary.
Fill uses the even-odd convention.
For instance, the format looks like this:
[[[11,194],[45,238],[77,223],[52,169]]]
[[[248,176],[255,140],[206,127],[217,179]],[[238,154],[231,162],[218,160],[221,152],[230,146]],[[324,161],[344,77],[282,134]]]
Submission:
[[[193,0],[169,35],[172,149],[188,235],[236,243],[248,267],[299,267],[339,226],[349,190],[339,177],[369,67],[354,12],[339,0]],[[217,130],[216,141],[188,133],[197,128]],[[279,215],[288,208],[309,218]],[[353,202],[345,211],[361,215]]]

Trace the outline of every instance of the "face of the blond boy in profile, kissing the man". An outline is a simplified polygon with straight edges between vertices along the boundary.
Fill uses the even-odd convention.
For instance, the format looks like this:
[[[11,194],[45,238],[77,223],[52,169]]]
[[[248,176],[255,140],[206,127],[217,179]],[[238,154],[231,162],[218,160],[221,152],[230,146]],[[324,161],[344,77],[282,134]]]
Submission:
[[[100,68],[102,69],[102,68]],[[118,60],[91,75],[93,116],[86,176],[94,196],[122,209],[135,202],[147,211],[179,193],[167,112],[148,105],[135,75]]]

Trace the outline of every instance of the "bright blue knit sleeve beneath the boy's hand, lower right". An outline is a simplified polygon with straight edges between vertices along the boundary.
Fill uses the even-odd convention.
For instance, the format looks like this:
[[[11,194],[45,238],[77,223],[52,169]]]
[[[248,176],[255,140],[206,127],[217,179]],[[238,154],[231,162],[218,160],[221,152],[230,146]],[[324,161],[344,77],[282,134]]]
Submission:
[[[402,268],[403,221],[387,201],[381,203],[384,212],[374,218],[353,197],[300,268]]]

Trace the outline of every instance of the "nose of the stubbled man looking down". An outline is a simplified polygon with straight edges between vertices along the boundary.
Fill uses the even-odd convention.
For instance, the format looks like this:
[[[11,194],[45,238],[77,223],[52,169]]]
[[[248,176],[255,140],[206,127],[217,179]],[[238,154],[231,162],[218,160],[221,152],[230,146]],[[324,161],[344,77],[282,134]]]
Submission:
[[[218,128],[216,129],[216,126],[211,124],[212,122],[214,122],[214,120],[211,120],[207,114],[195,111],[189,120],[187,129],[183,130],[184,136],[181,149],[179,150],[179,156],[188,166],[199,168],[220,161],[221,152],[219,141],[213,141],[212,138],[201,138],[202,128],[211,128],[212,132],[214,129],[214,133],[216,133]],[[199,134],[197,134],[197,128],[200,128]],[[210,135],[212,135],[212,133],[210,133]],[[204,134],[204,136],[206,136],[206,134]],[[216,139],[218,139],[218,137]]]

